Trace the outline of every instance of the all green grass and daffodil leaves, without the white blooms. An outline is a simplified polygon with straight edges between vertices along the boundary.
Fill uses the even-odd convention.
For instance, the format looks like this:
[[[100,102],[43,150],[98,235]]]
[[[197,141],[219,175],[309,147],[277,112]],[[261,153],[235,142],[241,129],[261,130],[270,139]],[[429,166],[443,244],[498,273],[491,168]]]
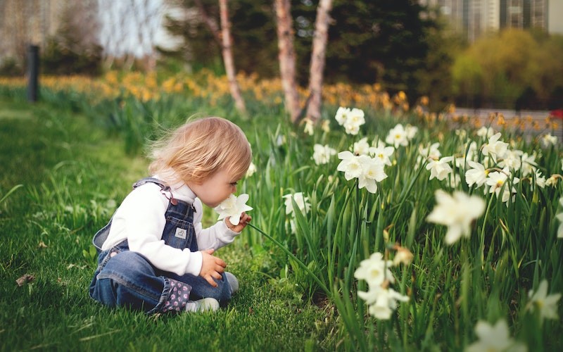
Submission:
[[[3,346],[27,349],[51,343],[53,349],[99,349],[110,341],[127,349],[167,349],[163,336],[184,337],[185,332],[189,338],[201,336],[203,347],[213,347],[217,341],[228,346],[223,349],[244,351],[462,351],[479,339],[478,322],[501,320],[510,329],[508,336],[530,350],[559,351],[563,346],[562,320],[542,318],[537,310],[542,303],[529,298],[544,280],[548,294],[563,291],[563,240],[557,238],[556,216],[563,210],[560,143],[545,147],[501,127],[502,140],[510,143],[511,150],[536,155],[541,175],[555,180],[540,187],[536,176],[526,176],[524,168],[511,170],[505,186],[512,183],[516,193],[502,203],[494,194],[483,194],[482,186],[469,187],[463,168],[456,167],[446,180],[429,179],[424,167],[428,161],[421,158],[419,147],[434,142],[439,142],[442,156],[462,156],[467,142],[473,141],[474,161],[486,163],[487,168],[501,167],[500,160],[485,161],[480,151],[487,139],[464,122],[453,126],[441,118],[426,120],[416,113],[358,106],[365,108],[367,121],[358,135],[350,136],[336,125],[336,108],[324,106],[323,118],[331,122],[331,131],[317,127],[308,135],[303,126],[290,125],[278,108],[253,99],[247,101],[252,118],[243,119],[224,97],[215,106],[189,94],[141,103],[133,97],[100,100],[72,89],[44,89],[42,98],[49,105],[30,108],[16,102],[23,101],[23,94],[7,92],[14,101],[0,108],[6,112],[0,120],[6,126],[0,152],[7,171],[1,176],[0,199],[13,193],[0,201],[2,233],[8,234],[0,247],[2,275],[8,284],[0,294],[10,307],[26,308],[20,315],[14,308],[1,313],[6,316],[0,327]],[[87,103],[94,100],[93,105]],[[246,286],[217,315],[146,317],[108,312],[89,301],[84,291],[94,262],[89,254],[91,234],[105,224],[130,184],[145,175],[147,162],[139,155],[146,141],[192,113],[234,120],[253,148],[258,171],[238,188],[239,194],[250,195],[255,228],[245,230],[221,251],[229,270]],[[312,161],[316,143],[350,150],[362,137],[370,143],[385,139],[398,122],[415,125],[419,132],[393,152],[392,165],[385,168],[388,177],[379,182],[375,194],[358,189],[357,180],[346,180],[337,170],[336,156],[325,165]],[[453,133],[454,128],[461,131]],[[454,175],[460,182],[453,182]],[[517,177],[520,182],[515,182]],[[24,186],[15,189],[18,184]],[[436,208],[438,189],[472,194],[487,205],[472,222],[469,237],[452,246],[444,241],[448,227],[427,220]],[[286,215],[284,195],[297,192],[308,197],[310,210]],[[210,209],[205,215],[207,223],[216,216]],[[374,252],[393,258],[396,244],[410,250],[414,258],[408,267],[391,267],[396,279],[391,287],[410,299],[398,304],[388,320],[374,318],[368,313],[373,302],[358,297],[368,284],[356,279],[354,272]],[[15,278],[25,273],[35,275],[35,281],[16,287]],[[40,298],[29,303],[35,296]],[[322,302],[322,308],[308,302]],[[42,305],[65,315],[40,309]],[[27,315],[27,307],[46,313]],[[563,316],[560,301],[548,308]],[[31,318],[18,321],[23,317]],[[65,323],[48,324],[51,320],[46,317],[59,317]],[[190,321],[184,324],[186,319]],[[4,321],[14,328],[4,328]],[[213,327],[216,335],[202,336],[200,324]],[[32,343],[20,340],[27,335],[34,337]],[[6,336],[11,340],[5,343]],[[188,339],[171,347],[200,346],[199,341]]]

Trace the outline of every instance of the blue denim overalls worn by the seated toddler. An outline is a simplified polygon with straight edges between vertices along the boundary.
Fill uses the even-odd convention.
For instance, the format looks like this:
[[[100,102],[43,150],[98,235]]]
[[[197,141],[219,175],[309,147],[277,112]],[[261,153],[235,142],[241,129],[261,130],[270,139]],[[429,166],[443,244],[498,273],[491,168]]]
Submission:
[[[170,203],[165,213],[166,225],[162,239],[167,246],[177,249],[198,251],[194,231],[195,208],[184,201],[179,201],[170,193],[170,187],[160,180],[148,177],[133,185],[137,188],[147,182],[158,184],[161,193]],[[168,198],[167,193],[170,194]],[[129,307],[144,310],[146,313],[160,313],[167,310],[171,298],[175,298],[177,288],[189,295],[194,301],[211,297],[217,299],[221,306],[226,306],[231,299],[231,291],[226,275],[215,279],[217,287],[212,287],[203,277],[195,275],[177,275],[155,268],[141,254],[129,251],[127,239],[113,248],[101,250],[103,242],[108,238],[111,221],[96,232],[92,242],[98,249],[98,267],[94,272],[89,293],[91,298],[108,307]]]

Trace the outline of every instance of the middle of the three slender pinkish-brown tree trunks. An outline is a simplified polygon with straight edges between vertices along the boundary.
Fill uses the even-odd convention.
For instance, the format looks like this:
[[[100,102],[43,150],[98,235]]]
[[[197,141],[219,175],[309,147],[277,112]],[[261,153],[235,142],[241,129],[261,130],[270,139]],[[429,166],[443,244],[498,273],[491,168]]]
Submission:
[[[299,118],[299,95],[297,92],[295,49],[293,49],[293,29],[291,27],[290,0],[275,0],[277,18],[277,37],[279,49],[279,75],[284,88],[286,110],[291,122]]]

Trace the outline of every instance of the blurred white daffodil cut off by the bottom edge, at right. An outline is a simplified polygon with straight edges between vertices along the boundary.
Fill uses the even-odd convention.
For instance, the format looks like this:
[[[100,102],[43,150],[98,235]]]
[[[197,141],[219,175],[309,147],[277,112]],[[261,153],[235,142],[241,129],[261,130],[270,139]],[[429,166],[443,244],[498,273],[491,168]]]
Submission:
[[[479,320],[475,325],[475,334],[479,340],[465,348],[465,352],[511,351],[525,352],[527,348],[510,337],[505,320],[498,320],[495,325]]]

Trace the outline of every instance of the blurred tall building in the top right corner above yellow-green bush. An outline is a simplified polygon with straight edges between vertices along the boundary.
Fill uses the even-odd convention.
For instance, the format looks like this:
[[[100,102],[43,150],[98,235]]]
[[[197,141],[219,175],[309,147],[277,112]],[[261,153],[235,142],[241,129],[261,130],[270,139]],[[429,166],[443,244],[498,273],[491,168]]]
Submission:
[[[538,28],[563,34],[563,0],[419,0],[438,8],[469,42],[503,28]]]

